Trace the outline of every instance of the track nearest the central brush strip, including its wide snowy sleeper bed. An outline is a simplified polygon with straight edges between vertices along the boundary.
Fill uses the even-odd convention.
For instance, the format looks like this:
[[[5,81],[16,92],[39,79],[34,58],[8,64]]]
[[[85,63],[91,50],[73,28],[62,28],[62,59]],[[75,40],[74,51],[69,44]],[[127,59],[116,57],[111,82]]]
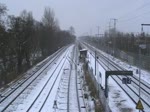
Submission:
[[[68,66],[64,69],[58,92],[55,100],[57,101],[57,111],[65,112],[87,112],[83,99],[80,76],[77,72],[77,47],[75,46],[68,59]]]

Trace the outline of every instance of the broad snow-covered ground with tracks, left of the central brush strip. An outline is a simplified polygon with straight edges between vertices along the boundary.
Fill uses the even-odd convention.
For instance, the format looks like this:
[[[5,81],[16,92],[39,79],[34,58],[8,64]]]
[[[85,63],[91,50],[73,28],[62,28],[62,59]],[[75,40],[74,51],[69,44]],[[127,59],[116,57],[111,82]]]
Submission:
[[[65,81],[67,84],[69,80],[67,77],[71,73],[71,81],[70,81],[70,97],[69,97],[69,110],[70,112],[77,112],[78,110],[78,96],[77,92],[79,92],[80,96],[83,96],[81,90],[76,90],[76,75],[77,70],[75,69],[75,59],[77,55],[74,53],[74,46],[72,45],[67,50],[65,50],[61,56],[51,63],[51,60],[39,71],[37,71],[32,77],[30,77],[25,83],[19,80],[20,83],[14,83],[13,88],[17,88],[8,98],[0,104],[0,111],[5,109],[6,112],[53,112],[55,111],[54,102],[57,103],[57,111],[67,111],[67,94],[68,85],[64,86],[63,89],[60,88],[60,84]],[[74,58],[73,58],[74,57]],[[73,58],[73,59],[72,59]],[[74,60],[74,63],[71,62],[71,59]],[[47,59],[46,59],[47,60]],[[43,61],[44,62],[44,61]],[[39,63],[37,66],[43,64],[43,62]],[[51,64],[50,64],[51,63]],[[49,65],[50,64],[50,65]],[[72,64],[72,69],[71,65]],[[24,77],[26,79],[33,72],[36,71],[37,68],[33,68],[34,70],[28,71]],[[40,75],[39,75],[40,74]],[[79,77],[80,78],[80,77]],[[24,79],[24,78],[23,78]],[[62,81],[62,79],[64,79]],[[80,80],[80,79],[79,79]],[[23,80],[24,81],[24,80]],[[78,81],[78,80],[77,80]],[[21,85],[20,85],[21,84]],[[11,86],[11,85],[10,85]],[[62,85],[61,85],[62,87]],[[80,85],[77,85],[77,88]],[[66,89],[65,89],[66,88]],[[61,92],[60,92],[61,89]],[[7,94],[11,92],[12,89],[7,89]],[[3,91],[2,91],[3,92]],[[3,92],[3,94],[5,94]],[[58,97],[59,93],[59,97]],[[5,95],[7,95],[5,94]],[[66,94],[66,97],[65,97]],[[83,98],[79,98],[81,107],[84,107]],[[82,109],[82,112],[85,112],[85,109]]]

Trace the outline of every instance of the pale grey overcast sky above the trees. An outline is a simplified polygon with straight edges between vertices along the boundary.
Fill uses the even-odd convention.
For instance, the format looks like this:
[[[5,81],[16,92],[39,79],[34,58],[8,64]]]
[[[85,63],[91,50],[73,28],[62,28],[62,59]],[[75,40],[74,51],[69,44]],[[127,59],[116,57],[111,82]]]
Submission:
[[[149,0],[0,0],[9,9],[8,14],[19,15],[24,9],[32,11],[41,20],[44,8],[54,10],[61,29],[75,28],[76,34],[86,35],[108,30],[110,18],[116,18],[117,29],[140,32],[141,23],[150,23]],[[112,25],[111,25],[112,26]],[[150,28],[144,28],[146,32]]]

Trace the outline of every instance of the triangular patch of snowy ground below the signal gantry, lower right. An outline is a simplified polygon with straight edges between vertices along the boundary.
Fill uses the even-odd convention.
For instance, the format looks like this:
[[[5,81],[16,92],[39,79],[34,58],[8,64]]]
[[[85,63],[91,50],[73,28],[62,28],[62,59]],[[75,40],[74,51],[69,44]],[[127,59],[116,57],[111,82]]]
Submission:
[[[118,87],[112,78],[109,78],[108,102],[112,112],[139,112],[133,101]]]

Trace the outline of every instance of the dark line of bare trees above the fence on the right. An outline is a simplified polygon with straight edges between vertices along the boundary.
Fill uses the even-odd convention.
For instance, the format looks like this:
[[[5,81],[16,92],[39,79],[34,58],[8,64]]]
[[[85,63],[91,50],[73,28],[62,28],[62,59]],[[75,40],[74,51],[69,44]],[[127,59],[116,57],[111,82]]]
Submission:
[[[146,44],[146,49],[141,50],[142,54],[150,54],[150,35],[145,33],[123,33],[110,29],[109,32],[106,31],[101,37],[83,36],[80,39],[103,50],[108,50],[109,46],[109,49],[112,50],[121,50],[135,54],[139,53],[140,44]]]

